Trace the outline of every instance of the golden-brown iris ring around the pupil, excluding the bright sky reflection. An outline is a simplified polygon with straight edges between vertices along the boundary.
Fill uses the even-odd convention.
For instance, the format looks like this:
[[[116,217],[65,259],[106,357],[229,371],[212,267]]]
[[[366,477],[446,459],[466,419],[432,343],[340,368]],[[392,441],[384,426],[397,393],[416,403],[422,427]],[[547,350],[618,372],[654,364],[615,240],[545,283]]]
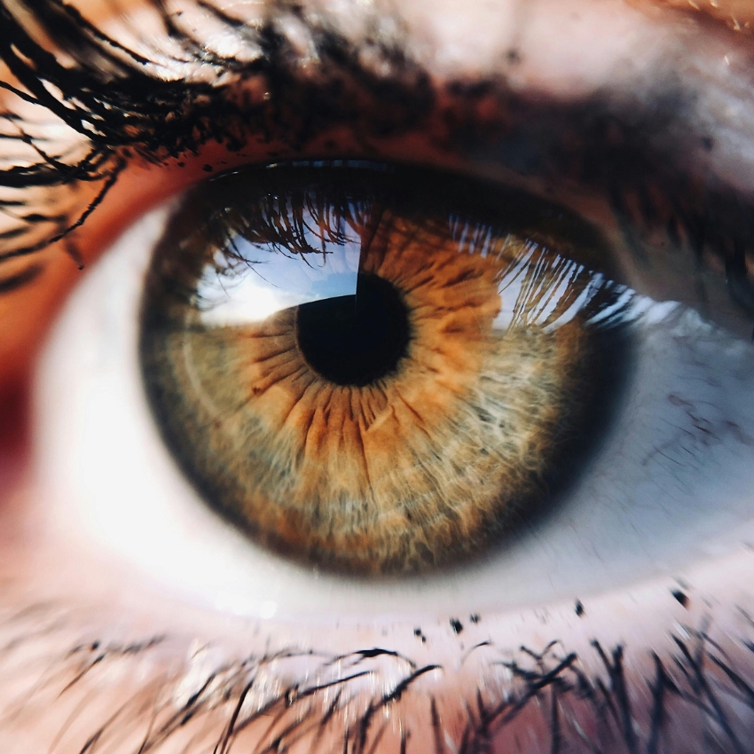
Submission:
[[[275,170],[272,191],[261,178],[245,192],[243,177],[208,184],[155,255],[142,360],[169,445],[210,504],[297,559],[395,573],[478,553],[536,505],[583,420],[593,272],[368,169]],[[380,281],[373,295],[407,324],[381,373],[324,374],[302,348],[307,304],[208,320],[208,272],[231,291],[264,274],[240,238],[308,265],[356,242],[360,285]]]

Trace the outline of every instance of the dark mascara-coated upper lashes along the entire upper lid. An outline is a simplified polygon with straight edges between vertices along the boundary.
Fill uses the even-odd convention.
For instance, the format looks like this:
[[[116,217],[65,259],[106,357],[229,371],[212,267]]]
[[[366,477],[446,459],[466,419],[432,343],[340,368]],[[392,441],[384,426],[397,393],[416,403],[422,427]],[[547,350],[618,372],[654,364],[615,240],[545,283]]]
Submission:
[[[658,231],[671,243],[690,248],[700,265],[704,254],[711,252],[722,259],[736,300],[754,316],[754,287],[747,265],[754,208],[724,187],[691,185],[685,178],[683,154],[657,153],[652,137],[672,117],[669,105],[663,106],[662,85],[657,87],[654,105],[648,106],[647,117],[639,122],[635,117],[622,120],[620,109],[609,98],[573,106],[531,102],[514,95],[502,77],[444,82],[438,90],[428,73],[407,56],[399,19],[394,19],[398,31],[392,36],[366,35],[353,42],[326,19],[306,17],[300,6],[286,0],[269,4],[259,27],[244,26],[205,0],[194,2],[224,23],[240,43],[254,44],[262,54],[241,61],[208,50],[170,16],[162,0],[153,0],[166,32],[185,51],[185,59],[174,57],[176,64],[198,59],[213,67],[216,75],[216,81],[209,83],[169,80],[161,77],[159,68],[149,67],[144,55],[104,35],[62,0],[40,0],[26,10],[56,47],[73,59],[72,67],[63,67],[35,42],[9,10],[7,0],[0,0],[0,23],[6,30],[0,40],[0,59],[21,88],[3,82],[0,87],[49,111],[90,144],[89,153],[69,162],[62,155],[44,152],[17,116],[0,114],[0,123],[12,124],[10,132],[26,139],[35,152],[34,161],[11,165],[0,173],[0,190],[5,188],[10,197],[0,195],[0,210],[20,206],[25,212],[17,216],[17,226],[5,238],[0,234],[0,262],[66,239],[104,199],[134,154],[159,164],[197,154],[209,140],[240,151],[250,133],[268,143],[272,139],[283,142],[295,153],[328,127],[342,123],[353,126],[368,145],[369,137],[420,130],[432,119],[444,123],[446,130],[444,136],[436,137],[438,145],[463,153],[468,142],[484,145],[490,140],[489,123],[480,122],[475,108],[492,99],[508,114],[516,114],[518,121],[509,124],[509,130],[534,123],[531,131],[542,144],[545,175],[549,171],[551,176],[565,176],[609,196],[624,240],[637,254],[647,233]],[[297,20],[310,35],[318,54],[318,81],[306,79],[297,70],[298,54],[279,25],[282,17]],[[376,64],[361,62],[366,47]],[[155,51],[152,62],[158,63],[159,57]],[[389,73],[378,74],[381,67]],[[234,83],[260,79],[271,96],[234,98],[234,84],[224,81],[228,75]],[[60,95],[53,96],[45,82]],[[333,82],[341,84],[335,93]],[[675,89],[669,101],[682,111],[677,108],[682,92],[677,85]],[[437,105],[440,93],[450,103],[442,109]],[[381,103],[388,95],[391,107],[385,108]],[[295,115],[303,111],[306,118]],[[542,122],[550,125],[544,136],[537,131]],[[578,134],[579,144],[566,148],[559,139],[569,127],[571,136],[574,130]],[[621,136],[618,144],[616,129]],[[34,207],[25,196],[29,186],[51,190],[80,181],[98,184],[99,191],[79,216],[64,221]],[[51,230],[39,238],[42,224],[50,224]],[[67,250],[77,259],[72,243]]]

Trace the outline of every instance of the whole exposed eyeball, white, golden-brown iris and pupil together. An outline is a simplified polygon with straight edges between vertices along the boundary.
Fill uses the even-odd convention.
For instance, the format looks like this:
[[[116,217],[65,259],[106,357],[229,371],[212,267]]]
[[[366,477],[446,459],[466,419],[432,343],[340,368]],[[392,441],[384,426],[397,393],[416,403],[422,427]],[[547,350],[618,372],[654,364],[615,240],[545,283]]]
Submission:
[[[458,175],[200,185],[123,237],[53,338],[52,525],[249,615],[499,609],[672,572],[750,515],[754,350],[648,297],[630,259]]]

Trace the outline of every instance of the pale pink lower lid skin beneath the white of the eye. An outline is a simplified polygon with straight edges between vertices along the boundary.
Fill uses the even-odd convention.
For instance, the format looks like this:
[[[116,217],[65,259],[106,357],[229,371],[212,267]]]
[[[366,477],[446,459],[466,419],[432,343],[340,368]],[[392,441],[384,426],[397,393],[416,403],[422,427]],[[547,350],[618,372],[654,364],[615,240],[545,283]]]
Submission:
[[[746,585],[754,567],[750,553],[734,554],[705,568],[688,570],[683,587],[673,579],[663,578],[585,599],[580,609],[573,600],[568,600],[498,616],[463,615],[451,619],[424,615],[377,621],[350,617],[343,618],[334,628],[318,625],[307,617],[293,623],[256,622],[207,614],[171,601],[112,562],[103,562],[81,551],[68,552],[65,543],[48,541],[43,553],[35,552],[33,540],[33,536],[27,537],[26,552],[13,567],[5,563],[4,572],[11,585],[5,599],[12,607],[16,604],[26,607],[29,601],[51,606],[51,617],[46,609],[40,609],[38,615],[16,620],[14,625],[4,624],[4,643],[6,639],[17,638],[14,632],[20,629],[31,633],[39,625],[46,628],[56,621],[58,624],[41,638],[27,640],[27,648],[6,654],[15,661],[11,666],[20,687],[27,690],[30,679],[38,682],[42,677],[46,686],[29,696],[18,718],[12,722],[6,720],[5,729],[0,728],[0,740],[12,732],[15,744],[24,742],[27,747],[12,751],[33,750],[35,744],[49,742],[75,705],[85,703],[95,689],[112,696],[110,706],[106,707],[112,714],[121,708],[117,700],[126,691],[146,694],[159,682],[172,692],[173,704],[180,710],[189,695],[181,692],[182,684],[198,690],[210,675],[222,675],[221,669],[229,665],[240,664],[252,656],[277,656],[281,652],[292,652],[294,656],[270,671],[279,683],[297,684],[300,691],[306,692],[338,679],[335,687],[351,695],[347,709],[353,716],[352,723],[354,719],[364,719],[370,705],[379,708],[375,726],[387,726],[382,738],[384,748],[379,751],[399,750],[401,731],[410,732],[412,747],[408,750],[432,751],[436,738],[433,704],[437,719],[442,720],[444,740],[456,744],[463,739],[469,721],[474,721],[475,740],[481,741],[489,734],[491,751],[508,751],[512,741],[522,738],[526,743],[520,750],[546,751],[552,724],[548,705],[555,700],[562,713],[565,739],[577,742],[574,731],[580,731],[589,740],[598,740],[606,734],[595,711],[594,697],[604,695],[602,703],[614,704],[617,713],[625,703],[622,684],[630,703],[632,726],[637,728],[637,737],[646,740],[656,704],[655,656],[663,659],[663,673],[680,687],[677,694],[671,693],[670,687],[666,689],[663,731],[668,746],[672,743],[667,750],[673,754],[697,751],[697,742],[703,740],[710,726],[709,719],[705,721],[692,703],[695,695],[698,703],[707,699],[706,692],[694,689],[693,676],[697,670],[700,671],[697,683],[711,685],[710,698],[719,700],[739,734],[752,724],[750,708],[739,705],[739,709],[732,711],[728,696],[731,689],[740,686],[731,681],[728,671],[745,679],[750,667],[750,650],[744,645],[751,635],[746,609],[750,605]],[[12,549],[7,554],[17,553]],[[167,639],[130,659],[118,655],[124,646],[156,636]],[[81,649],[92,640],[98,640],[97,648]],[[554,640],[558,643],[546,651]],[[606,657],[593,646],[594,640],[599,640]],[[79,648],[75,662],[60,663],[62,667],[56,673],[44,676],[48,662],[55,667],[59,653],[65,655],[75,647]],[[85,681],[78,681],[77,686],[67,689],[67,695],[60,696],[62,687],[67,687],[82,669],[105,654],[103,647],[110,648],[113,656],[106,656],[101,669],[90,670]],[[620,674],[615,672],[618,647],[624,647]],[[532,658],[522,648],[544,656]],[[413,664],[392,655],[366,659],[350,655],[375,649],[397,653]],[[316,653],[314,660],[309,651]],[[33,663],[28,668],[23,664],[26,652]],[[40,655],[44,658],[43,668],[38,664]],[[334,657],[339,658],[337,672],[329,665]],[[679,674],[673,659],[685,674]],[[281,670],[284,663],[285,669]],[[328,667],[324,668],[325,665]],[[438,668],[428,670],[430,666]],[[384,703],[384,697],[409,679],[412,672],[424,670],[402,695]],[[356,678],[360,673],[364,673],[363,677]],[[738,690],[742,691],[740,687]],[[12,685],[7,682],[0,685],[0,692],[9,707],[17,703]],[[238,693],[235,688],[234,703]],[[271,692],[263,686],[259,694],[264,697]],[[482,716],[477,701],[480,694],[486,705],[482,709],[490,718],[486,727],[480,724]],[[506,701],[506,694],[513,701]],[[58,703],[52,703],[55,699]],[[263,705],[264,701],[267,697],[257,703]],[[326,706],[328,700],[318,696],[317,701]],[[707,702],[710,703],[709,699]],[[286,714],[285,705],[273,705],[269,714],[241,730],[239,750],[244,750],[247,744],[258,744],[268,734],[276,715],[290,723],[296,711],[309,710],[297,700],[293,703],[289,700],[289,708],[292,711]],[[217,735],[230,714],[222,705],[218,705],[218,710],[214,717],[208,714],[204,723]],[[102,714],[94,704],[85,707],[76,715],[76,731],[83,727],[91,733],[92,728],[102,724]],[[342,714],[346,716],[345,711]],[[141,723],[144,724],[144,719]],[[280,727],[285,726],[279,723]],[[617,721],[607,727],[619,740]],[[337,740],[342,737],[342,726],[331,724],[324,736]],[[71,741],[75,737],[73,732],[69,736]],[[180,740],[178,734],[175,740]],[[615,747],[616,751],[624,750],[617,742]],[[71,749],[74,750],[77,749]]]

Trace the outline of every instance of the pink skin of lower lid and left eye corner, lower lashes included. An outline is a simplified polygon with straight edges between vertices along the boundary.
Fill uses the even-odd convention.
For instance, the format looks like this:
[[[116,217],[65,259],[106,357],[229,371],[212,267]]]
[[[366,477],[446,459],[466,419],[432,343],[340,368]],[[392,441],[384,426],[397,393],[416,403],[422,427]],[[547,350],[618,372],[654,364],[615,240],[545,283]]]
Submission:
[[[203,177],[203,164],[232,159],[247,158],[205,152],[181,171],[134,169],[92,217],[81,247],[92,256],[106,247],[122,230],[113,218],[128,219],[124,205],[133,216]],[[75,754],[105,731],[102,750],[126,754],[159,741],[154,731],[166,720],[199,709],[200,723],[169,727],[156,749],[200,754],[231,731],[232,750],[262,742],[274,750],[287,735],[288,750],[334,751],[348,730],[347,750],[361,754],[402,745],[420,754],[544,754],[559,750],[556,740],[560,750],[612,754],[651,750],[655,732],[655,750],[669,754],[696,754],[705,741],[751,750],[754,557],[745,546],[682,578],[499,615],[386,606],[379,618],[249,620],[192,607],[106,555],[41,537],[43,505],[27,475],[26,375],[78,274],[59,258],[59,274],[23,299],[14,294],[3,319],[8,332],[12,318],[34,326],[9,339],[4,365],[13,366],[0,382],[0,750],[55,743]]]

